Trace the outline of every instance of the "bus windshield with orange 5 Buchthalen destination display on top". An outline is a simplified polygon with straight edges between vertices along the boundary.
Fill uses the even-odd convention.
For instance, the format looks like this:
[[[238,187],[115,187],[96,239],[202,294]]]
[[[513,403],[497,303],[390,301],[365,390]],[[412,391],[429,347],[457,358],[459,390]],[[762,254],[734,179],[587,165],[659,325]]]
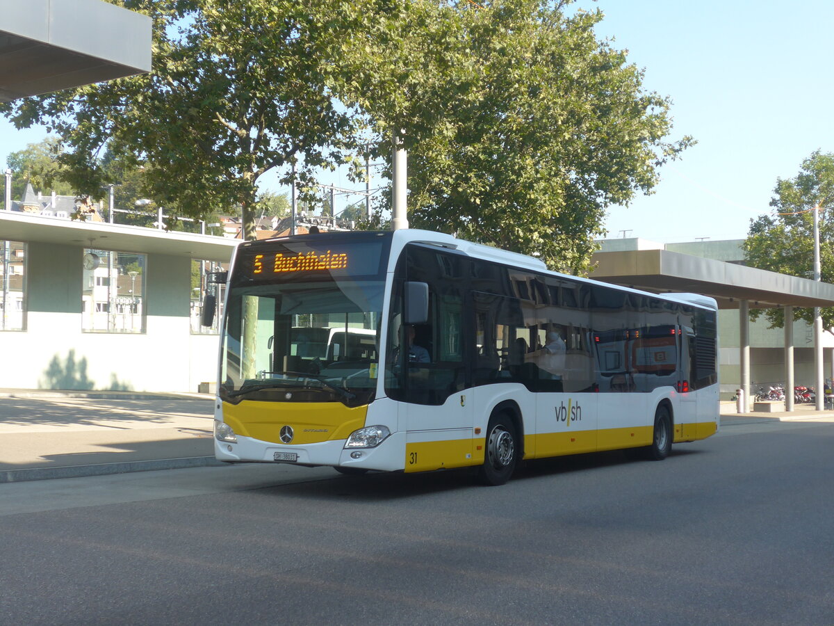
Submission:
[[[384,300],[381,247],[365,244],[361,259],[356,246],[338,240],[326,250],[271,243],[241,255],[226,305],[224,400],[371,401]]]

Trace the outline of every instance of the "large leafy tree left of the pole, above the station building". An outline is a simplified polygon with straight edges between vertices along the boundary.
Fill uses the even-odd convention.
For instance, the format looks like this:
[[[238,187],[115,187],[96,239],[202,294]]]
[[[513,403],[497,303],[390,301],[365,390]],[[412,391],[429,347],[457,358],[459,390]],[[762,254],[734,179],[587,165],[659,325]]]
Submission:
[[[153,71],[0,105],[18,127],[49,124],[87,193],[118,183],[105,146],[152,167],[149,197],[182,215],[242,207],[254,239],[257,183],[298,163],[301,184],[342,162],[354,112],[327,86],[345,33],[328,10],[295,0],[113,0],[153,18]],[[326,3],[324,3],[326,4]],[[311,184],[307,184],[311,186]]]

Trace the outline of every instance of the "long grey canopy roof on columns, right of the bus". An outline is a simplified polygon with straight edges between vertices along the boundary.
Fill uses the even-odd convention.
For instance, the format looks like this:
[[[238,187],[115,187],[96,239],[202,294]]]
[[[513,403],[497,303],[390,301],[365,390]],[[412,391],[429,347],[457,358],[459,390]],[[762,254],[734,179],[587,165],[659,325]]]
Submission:
[[[597,252],[594,280],[636,289],[709,295],[720,309],[834,306],[834,285],[746,265],[682,255],[668,250]]]

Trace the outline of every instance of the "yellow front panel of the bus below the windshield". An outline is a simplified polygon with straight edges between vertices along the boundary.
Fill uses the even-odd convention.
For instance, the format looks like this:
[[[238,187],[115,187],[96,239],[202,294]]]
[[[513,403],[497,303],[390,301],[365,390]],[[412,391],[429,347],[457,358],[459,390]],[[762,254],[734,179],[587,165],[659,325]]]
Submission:
[[[224,402],[223,419],[244,437],[262,442],[281,443],[281,428],[292,427],[289,445],[347,439],[351,432],[364,427],[368,406],[344,406],[341,402]]]

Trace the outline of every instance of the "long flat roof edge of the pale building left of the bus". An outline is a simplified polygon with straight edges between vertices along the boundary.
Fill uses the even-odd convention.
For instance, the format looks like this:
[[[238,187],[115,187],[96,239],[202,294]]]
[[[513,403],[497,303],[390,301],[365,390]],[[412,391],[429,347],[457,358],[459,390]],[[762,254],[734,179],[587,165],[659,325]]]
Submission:
[[[0,239],[228,262],[240,240],[0,210]]]

